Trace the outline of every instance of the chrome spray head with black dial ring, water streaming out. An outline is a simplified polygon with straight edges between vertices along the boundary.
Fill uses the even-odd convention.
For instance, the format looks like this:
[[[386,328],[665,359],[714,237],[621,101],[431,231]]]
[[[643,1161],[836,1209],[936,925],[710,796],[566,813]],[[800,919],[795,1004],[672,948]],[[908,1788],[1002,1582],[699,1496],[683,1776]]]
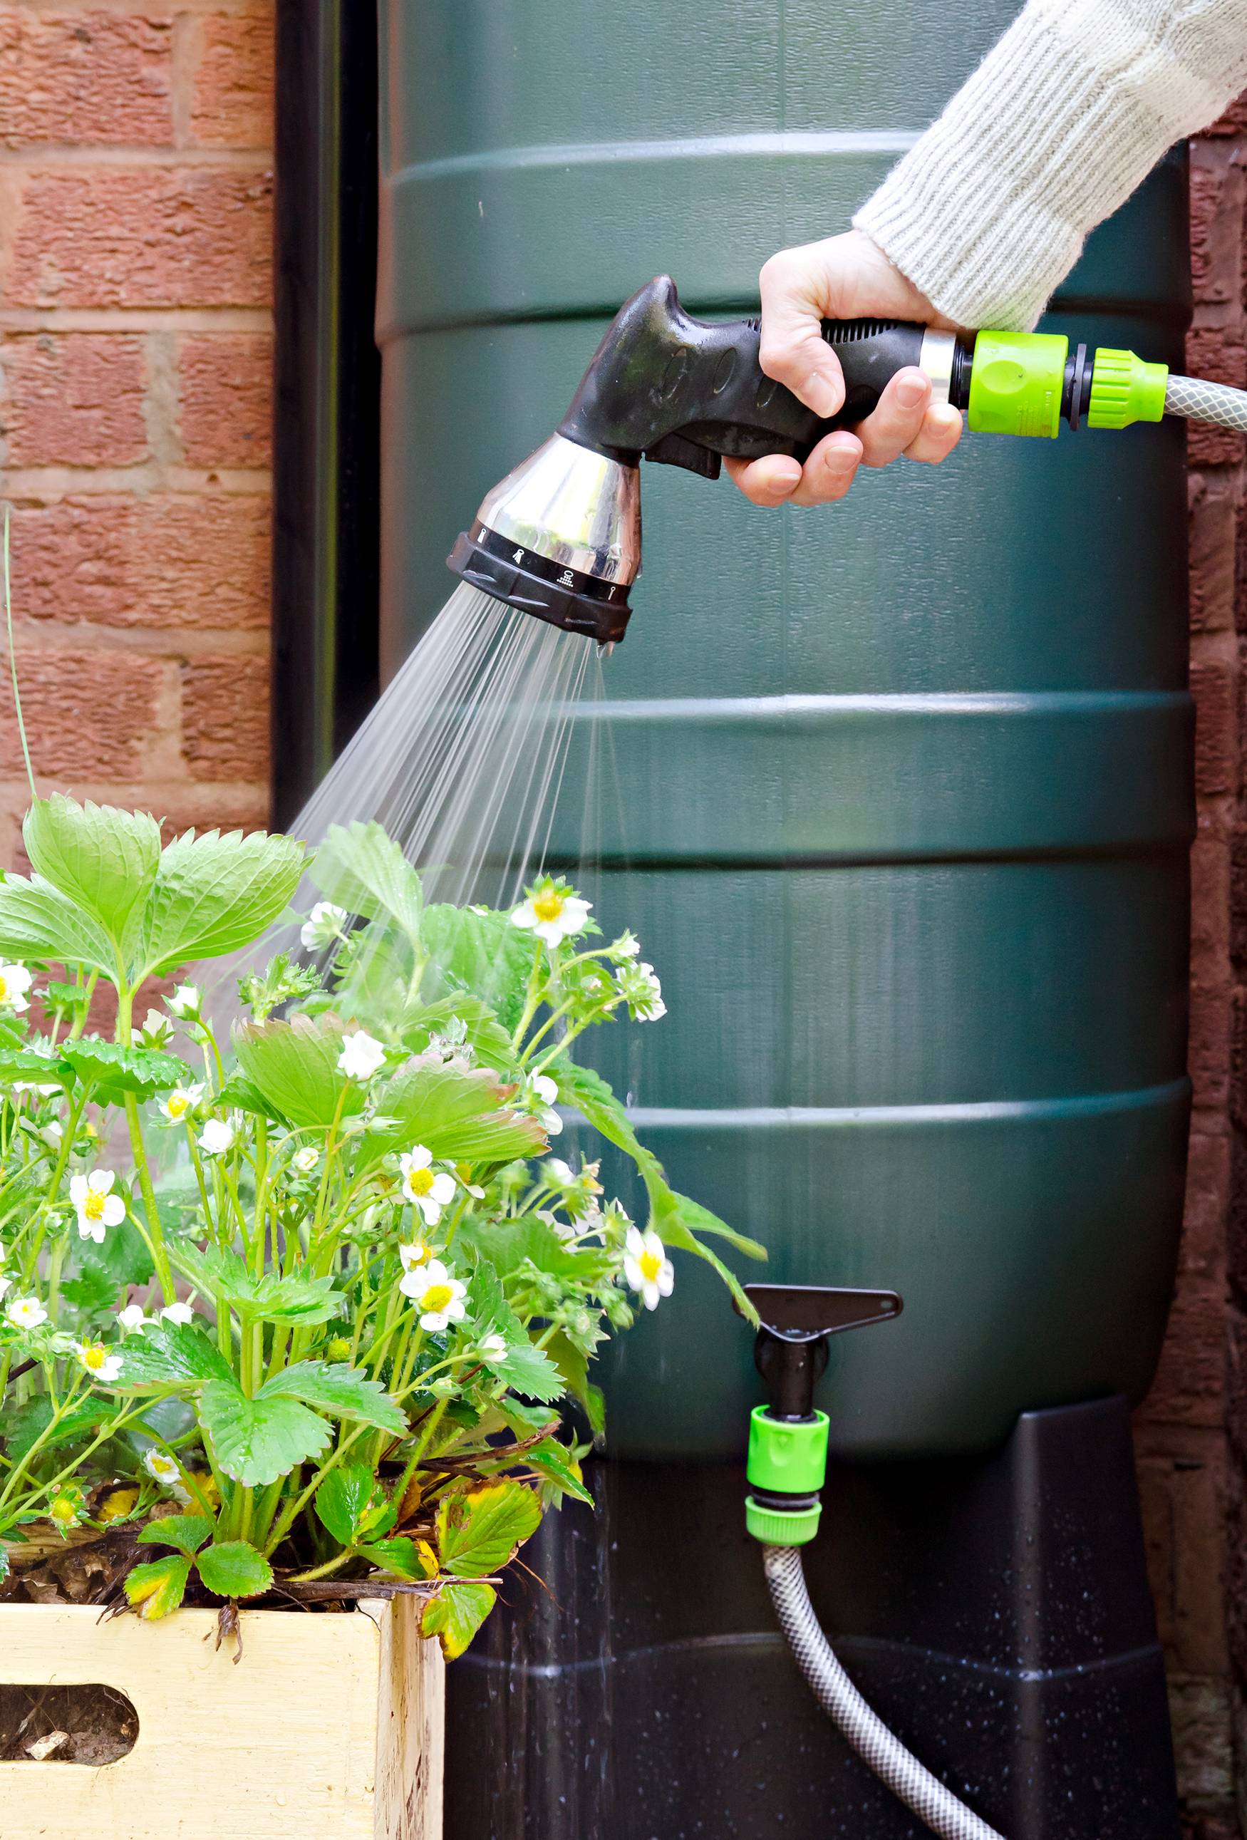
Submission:
[[[449,565],[509,607],[614,644],[640,572],[640,467],[552,434],[486,495]]]

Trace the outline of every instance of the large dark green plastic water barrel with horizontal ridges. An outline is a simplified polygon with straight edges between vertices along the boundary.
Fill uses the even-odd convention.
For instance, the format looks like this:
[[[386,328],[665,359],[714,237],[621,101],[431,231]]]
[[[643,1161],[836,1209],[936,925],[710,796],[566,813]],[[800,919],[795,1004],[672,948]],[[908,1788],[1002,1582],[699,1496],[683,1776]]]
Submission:
[[[765,256],[842,228],[1013,11],[384,0],[390,670],[620,302],[669,270],[695,313],[756,309]],[[1172,160],[1047,324],[1175,361],[1184,318]],[[1183,460],[1166,425],[967,436],[780,513],[646,467],[590,892],[669,1016],[601,1065],[767,1277],[903,1294],[833,1349],[841,1455],[1150,1384],[1188,1117]],[[734,1455],[760,1397],[690,1259],[609,1373],[625,1457]]]

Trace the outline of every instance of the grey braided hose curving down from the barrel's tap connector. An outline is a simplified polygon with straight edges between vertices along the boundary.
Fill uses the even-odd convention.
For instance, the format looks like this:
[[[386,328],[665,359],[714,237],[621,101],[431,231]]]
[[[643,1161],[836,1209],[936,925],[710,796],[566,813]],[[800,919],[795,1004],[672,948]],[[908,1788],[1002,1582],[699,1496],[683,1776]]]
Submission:
[[[931,1770],[918,1763],[918,1757],[910,1755],[883,1719],[866,1706],[822,1634],[806,1590],[800,1547],[763,1546],[761,1557],[771,1601],[796,1665],[824,1713],[841,1728],[857,1755],[920,1822],[932,1833],[944,1834],[944,1840],[1002,1840],[995,1827],[971,1814]]]

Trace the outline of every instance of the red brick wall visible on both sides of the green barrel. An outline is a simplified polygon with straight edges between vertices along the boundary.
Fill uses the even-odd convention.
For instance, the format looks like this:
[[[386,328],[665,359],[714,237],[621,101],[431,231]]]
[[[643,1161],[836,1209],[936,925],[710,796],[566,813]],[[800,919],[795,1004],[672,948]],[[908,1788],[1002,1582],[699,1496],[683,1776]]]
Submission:
[[[0,493],[35,762],[177,824],[269,806],[270,88],[272,0],[0,6]],[[1245,164],[1240,105],[1194,145],[1190,335],[1190,368],[1240,385]],[[1227,1643],[1223,1582],[1247,1549],[1243,466],[1240,438],[1192,438],[1196,1122],[1137,1426],[1192,1840],[1238,1836],[1236,1724],[1247,1754],[1247,1614]],[[0,859],[26,802],[6,699]],[[1229,1573],[1247,1603],[1247,1564]]]

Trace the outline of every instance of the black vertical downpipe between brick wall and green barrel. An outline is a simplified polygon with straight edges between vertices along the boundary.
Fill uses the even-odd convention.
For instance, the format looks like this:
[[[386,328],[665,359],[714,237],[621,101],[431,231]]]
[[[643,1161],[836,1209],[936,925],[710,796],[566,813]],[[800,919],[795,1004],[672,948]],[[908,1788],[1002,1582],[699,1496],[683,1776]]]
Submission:
[[[377,697],[377,7],[278,0],[272,804],[291,822]]]

